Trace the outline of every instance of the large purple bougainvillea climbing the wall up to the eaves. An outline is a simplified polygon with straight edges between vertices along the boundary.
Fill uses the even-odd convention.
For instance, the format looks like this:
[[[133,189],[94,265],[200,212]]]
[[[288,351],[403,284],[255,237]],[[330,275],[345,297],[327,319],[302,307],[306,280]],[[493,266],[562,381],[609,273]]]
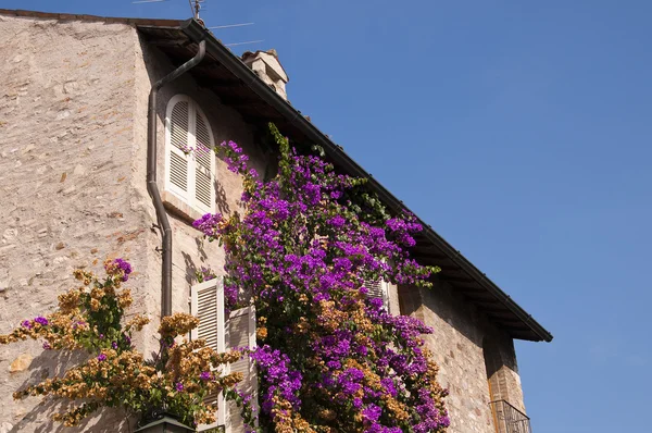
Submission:
[[[195,222],[226,250],[228,308],[255,304],[260,429],[443,432],[447,392],[421,336],[431,330],[390,316],[365,287],[428,285],[438,269],[408,253],[421,225],[410,214],[390,218],[365,180],[298,154],[271,128],[277,175],[260,181],[237,144],[222,144],[216,151],[242,175],[246,212]]]

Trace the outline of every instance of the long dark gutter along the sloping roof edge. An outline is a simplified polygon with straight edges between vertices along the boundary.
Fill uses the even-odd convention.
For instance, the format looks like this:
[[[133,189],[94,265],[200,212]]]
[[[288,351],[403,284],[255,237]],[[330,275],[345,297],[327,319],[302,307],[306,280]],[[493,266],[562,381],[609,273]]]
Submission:
[[[305,120],[301,113],[293,109],[286,100],[280,98],[276,91],[269,88],[251,71],[240,59],[234,55],[228,48],[217,41],[215,36],[195,20],[188,20],[181,24],[181,30],[192,40],[205,40],[208,49],[212,57],[222,63],[227,70],[242,81],[242,83],[258,94],[262,99],[278,111],[289,123],[294,125],[306,138],[315,145],[321,146],[327,154],[339,166],[343,168],[349,174],[359,177],[367,177],[371,189],[394,212],[402,212],[410,209],[389,190],[387,190],[378,181],[351,159],[340,146],[334,144],[324,133]],[[416,213],[412,212],[414,215]],[[463,271],[468,273],[480,285],[496,297],[505,308],[521,319],[540,341],[551,342],[553,336],[543,326],[541,326],[530,314],[528,314],[518,304],[516,304],[499,286],[481,273],[473,263],[453,248],[446,239],[439,236],[429,224],[426,224],[417,216],[418,222],[424,226],[424,234],[428,240],[439,247],[446,256],[456,263]]]

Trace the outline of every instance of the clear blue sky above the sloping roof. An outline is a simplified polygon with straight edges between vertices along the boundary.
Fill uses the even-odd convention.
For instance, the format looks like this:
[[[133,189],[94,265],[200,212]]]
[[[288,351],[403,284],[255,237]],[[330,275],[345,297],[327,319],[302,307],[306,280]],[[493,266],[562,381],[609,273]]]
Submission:
[[[189,16],[186,0],[1,8]],[[652,3],[208,0],[292,104],[549,329],[535,433],[650,431]],[[238,52],[243,51],[238,50]]]

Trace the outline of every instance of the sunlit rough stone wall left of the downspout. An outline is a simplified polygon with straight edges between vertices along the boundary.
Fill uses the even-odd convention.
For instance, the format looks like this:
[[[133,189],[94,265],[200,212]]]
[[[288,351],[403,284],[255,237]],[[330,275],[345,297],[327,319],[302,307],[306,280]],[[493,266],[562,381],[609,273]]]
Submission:
[[[136,30],[127,25],[0,16],[0,333],[51,312],[75,268],[126,257],[134,310],[158,302],[147,275],[155,240],[135,188]],[[137,112],[139,111],[139,112]],[[143,183],[143,182],[142,182]],[[35,342],[0,350],[0,431],[53,432],[57,407],[11,392],[61,373]],[[67,431],[116,431],[124,415]],[[93,424],[97,424],[92,428]]]

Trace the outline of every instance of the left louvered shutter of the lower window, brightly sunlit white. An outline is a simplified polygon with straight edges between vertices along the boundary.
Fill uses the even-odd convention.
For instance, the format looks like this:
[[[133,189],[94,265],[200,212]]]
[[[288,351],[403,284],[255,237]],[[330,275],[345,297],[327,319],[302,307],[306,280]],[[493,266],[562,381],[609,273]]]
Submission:
[[[224,284],[222,279],[210,280],[192,286],[190,290],[190,313],[199,318],[199,326],[191,331],[190,337],[192,339],[203,338],[213,350],[217,352],[225,351]],[[205,403],[217,406],[216,421],[213,424],[199,425],[198,431],[224,425],[226,404],[222,393],[209,396]]]

